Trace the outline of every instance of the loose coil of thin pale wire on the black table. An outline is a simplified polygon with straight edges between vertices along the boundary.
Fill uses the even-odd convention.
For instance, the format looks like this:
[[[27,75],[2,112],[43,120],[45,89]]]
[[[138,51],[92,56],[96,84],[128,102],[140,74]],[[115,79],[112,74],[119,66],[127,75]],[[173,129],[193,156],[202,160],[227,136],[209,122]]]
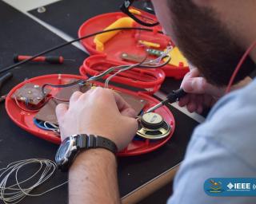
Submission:
[[[20,181],[18,179],[19,171],[30,164],[39,164],[38,170],[28,179]],[[21,202],[26,196],[41,196],[42,194],[46,194],[47,192],[66,184],[66,182],[63,182],[62,184],[54,186],[53,188],[50,188],[49,190],[46,190],[40,194],[30,194],[31,190],[34,190],[34,188],[40,186],[43,182],[50,179],[56,168],[56,163],[49,159],[25,159],[10,163],[7,167],[0,169],[0,200],[6,204],[14,204]],[[15,182],[14,184],[8,185],[12,175],[14,175]],[[36,181],[33,183],[34,180]],[[30,184],[29,187],[22,188],[21,184],[24,185],[31,182],[33,184]]]

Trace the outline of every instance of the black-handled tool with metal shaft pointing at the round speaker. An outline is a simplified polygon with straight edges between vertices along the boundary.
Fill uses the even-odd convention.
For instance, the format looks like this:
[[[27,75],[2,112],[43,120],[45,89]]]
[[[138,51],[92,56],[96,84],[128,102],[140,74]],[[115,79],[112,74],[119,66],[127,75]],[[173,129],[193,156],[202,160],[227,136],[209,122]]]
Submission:
[[[159,104],[156,104],[154,107],[148,109],[146,113],[154,112],[155,109],[160,108],[167,103],[172,104],[177,100],[179,100],[180,98],[182,98],[183,96],[186,96],[186,92],[182,88],[179,88],[178,90],[174,90],[166,96],[165,100],[162,100]]]

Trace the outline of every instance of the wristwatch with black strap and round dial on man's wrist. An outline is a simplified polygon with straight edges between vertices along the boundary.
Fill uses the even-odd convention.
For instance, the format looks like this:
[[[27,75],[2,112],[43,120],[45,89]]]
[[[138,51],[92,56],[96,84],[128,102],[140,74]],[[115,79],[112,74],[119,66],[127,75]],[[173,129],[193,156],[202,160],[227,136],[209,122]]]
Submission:
[[[61,171],[67,171],[79,152],[90,148],[104,148],[114,153],[118,151],[118,147],[110,139],[96,135],[72,135],[64,139],[58,147],[55,155],[55,161]]]

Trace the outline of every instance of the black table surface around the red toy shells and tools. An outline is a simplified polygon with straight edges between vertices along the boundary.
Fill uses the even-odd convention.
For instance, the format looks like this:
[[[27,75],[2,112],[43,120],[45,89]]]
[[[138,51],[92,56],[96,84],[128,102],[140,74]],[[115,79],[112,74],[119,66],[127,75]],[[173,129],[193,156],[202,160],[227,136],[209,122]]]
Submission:
[[[97,1],[94,2],[96,3]],[[63,7],[63,9],[67,10],[68,8]],[[58,10],[55,11],[58,12]],[[2,1],[0,1],[0,16],[0,28],[2,30],[2,32],[0,32],[0,69],[13,63],[12,59],[14,53],[34,54],[63,42],[60,37]],[[63,24],[66,23],[63,22]],[[8,92],[10,88],[20,83],[26,77],[31,78],[50,73],[78,74],[79,65],[81,65],[82,61],[87,57],[86,53],[83,53],[72,45],[56,50],[51,53],[51,55],[62,55],[66,58],[73,58],[76,61],[68,62],[64,65],[30,63],[18,67],[18,69],[13,70],[13,79],[8,81],[0,90],[1,94]],[[170,141],[166,143],[164,147],[152,153],[118,159],[118,181],[122,197],[182,161],[190,135],[198,123],[182,112],[179,112],[177,109],[169,108],[176,120],[176,129]],[[57,148],[57,145],[38,139],[30,133],[23,131],[21,128],[18,128],[10,120],[9,116],[7,116],[4,104],[0,104],[1,167],[5,167],[8,163],[21,159],[54,159]],[[56,186],[59,183],[65,182],[66,179],[66,174],[57,172],[54,178],[50,179],[50,182],[46,182],[45,185],[34,190],[34,193]],[[43,196],[26,198],[24,202],[66,203],[66,200],[67,186],[62,186]]]

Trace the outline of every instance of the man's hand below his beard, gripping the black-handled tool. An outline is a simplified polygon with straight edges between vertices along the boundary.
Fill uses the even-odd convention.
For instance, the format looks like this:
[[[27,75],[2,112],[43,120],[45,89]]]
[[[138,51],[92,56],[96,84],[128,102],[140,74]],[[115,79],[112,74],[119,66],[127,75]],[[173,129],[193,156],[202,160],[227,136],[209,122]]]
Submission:
[[[246,77],[238,84],[235,84],[231,90],[242,88],[250,83],[250,77]],[[200,77],[198,69],[191,69],[182,80],[181,88],[188,92],[186,96],[182,97],[178,104],[186,108],[189,112],[202,113],[204,108],[212,107],[216,101],[225,94],[226,88],[217,88],[209,84],[205,78]]]

